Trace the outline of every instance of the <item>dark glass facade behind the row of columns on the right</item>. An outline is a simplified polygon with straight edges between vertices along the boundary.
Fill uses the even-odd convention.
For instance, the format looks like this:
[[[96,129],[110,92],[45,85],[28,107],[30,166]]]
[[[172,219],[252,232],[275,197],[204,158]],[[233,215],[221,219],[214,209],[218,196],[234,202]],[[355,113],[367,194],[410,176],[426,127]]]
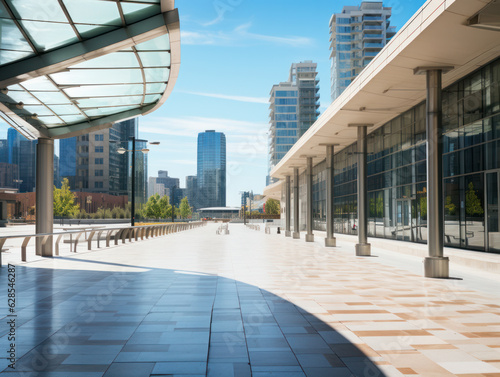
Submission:
[[[497,60],[443,91],[445,246],[500,252],[499,83]],[[427,241],[425,116],[421,103],[368,135],[371,237]],[[325,229],[325,178],[323,162],[314,169],[317,230]],[[334,181],[335,231],[356,234],[356,143],[335,155]]]

